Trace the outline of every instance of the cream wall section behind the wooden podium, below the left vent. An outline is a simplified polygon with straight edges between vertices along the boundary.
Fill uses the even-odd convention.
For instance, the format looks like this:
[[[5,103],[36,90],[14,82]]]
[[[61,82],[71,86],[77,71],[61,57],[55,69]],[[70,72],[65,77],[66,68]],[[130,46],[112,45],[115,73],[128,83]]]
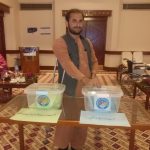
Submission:
[[[19,0],[20,3],[48,3],[53,4],[52,0]],[[20,46],[38,46],[40,50],[52,50],[54,39],[53,8],[52,10],[20,10]],[[37,27],[37,32],[27,33],[28,27]],[[41,29],[50,27],[50,29]],[[42,35],[41,33],[50,33]],[[55,56],[53,54],[40,54],[40,66],[53,66]]]

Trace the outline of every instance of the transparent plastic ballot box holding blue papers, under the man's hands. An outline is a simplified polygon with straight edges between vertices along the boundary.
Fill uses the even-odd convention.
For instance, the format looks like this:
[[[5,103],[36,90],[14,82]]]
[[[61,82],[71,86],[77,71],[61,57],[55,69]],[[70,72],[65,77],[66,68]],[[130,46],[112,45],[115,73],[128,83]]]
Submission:
[[[123,92],[120,86],[84,87],[84,105],[87,111],[118,112]]]

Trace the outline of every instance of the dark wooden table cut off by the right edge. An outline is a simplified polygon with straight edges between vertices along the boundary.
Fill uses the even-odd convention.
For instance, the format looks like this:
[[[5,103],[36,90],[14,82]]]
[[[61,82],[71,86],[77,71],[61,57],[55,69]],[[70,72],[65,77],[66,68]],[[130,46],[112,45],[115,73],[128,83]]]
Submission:
[[[145,109],[148,109],[149,107],[149,97],[150,97],[150,86],[147,86],[146,84],[142,82],[134,82],[134,91],[133,91],[133,98],[136,97],[136,89],[140,89],[142,92],[146,94],[146,103],[145,103]]]

